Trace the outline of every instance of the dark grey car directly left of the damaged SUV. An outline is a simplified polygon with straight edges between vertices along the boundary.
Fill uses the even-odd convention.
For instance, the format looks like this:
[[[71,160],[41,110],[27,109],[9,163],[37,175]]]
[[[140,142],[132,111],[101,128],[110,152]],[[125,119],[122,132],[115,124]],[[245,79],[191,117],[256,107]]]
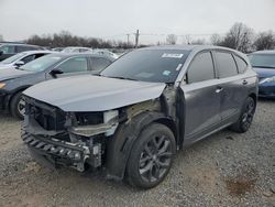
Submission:
[[[32,61],[19,68],[0,69],[0,109],[23,119],[22,91],[24,89],[48,79],[97,74],[112,61],[111,57],[95,54],[55,53]]]

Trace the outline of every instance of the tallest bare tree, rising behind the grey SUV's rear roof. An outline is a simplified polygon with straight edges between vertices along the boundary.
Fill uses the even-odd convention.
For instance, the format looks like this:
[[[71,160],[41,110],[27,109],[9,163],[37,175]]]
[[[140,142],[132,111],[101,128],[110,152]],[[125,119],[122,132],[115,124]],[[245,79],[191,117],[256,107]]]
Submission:
[[[235,48],[243,53],[250,52],[253,39],[253,30],[243,23],[234,23],[230,29],[224,40],[221,42],[222,46]]]

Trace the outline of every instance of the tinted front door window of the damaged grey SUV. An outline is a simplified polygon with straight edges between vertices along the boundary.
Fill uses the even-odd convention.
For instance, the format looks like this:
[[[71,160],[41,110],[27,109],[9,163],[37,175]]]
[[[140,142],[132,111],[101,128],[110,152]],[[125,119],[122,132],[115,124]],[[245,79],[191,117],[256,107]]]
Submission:
[[[204,52],[195,56],[188,73],[188,84],[209,80],[215,78],[213,62],[210,52]]]

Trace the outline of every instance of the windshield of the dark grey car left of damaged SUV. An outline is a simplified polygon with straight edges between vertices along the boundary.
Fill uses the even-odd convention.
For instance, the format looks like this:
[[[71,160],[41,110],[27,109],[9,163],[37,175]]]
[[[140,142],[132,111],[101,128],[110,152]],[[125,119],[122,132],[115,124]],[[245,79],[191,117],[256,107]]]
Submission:
[[[61,58],[62,57],[58,55],[45,55],[23,65],[22,67],[20,67],[20,69],[29,72],[42,72],[59,62]]]

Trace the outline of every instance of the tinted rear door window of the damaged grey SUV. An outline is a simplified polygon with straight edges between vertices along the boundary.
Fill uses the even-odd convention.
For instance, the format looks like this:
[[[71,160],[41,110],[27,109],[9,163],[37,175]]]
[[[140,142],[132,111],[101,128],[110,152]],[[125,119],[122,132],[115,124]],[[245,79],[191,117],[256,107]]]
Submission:
[[[238,74],[233,56],[227,52],[216,52],[216,64],[219,78],[227,78]]]

